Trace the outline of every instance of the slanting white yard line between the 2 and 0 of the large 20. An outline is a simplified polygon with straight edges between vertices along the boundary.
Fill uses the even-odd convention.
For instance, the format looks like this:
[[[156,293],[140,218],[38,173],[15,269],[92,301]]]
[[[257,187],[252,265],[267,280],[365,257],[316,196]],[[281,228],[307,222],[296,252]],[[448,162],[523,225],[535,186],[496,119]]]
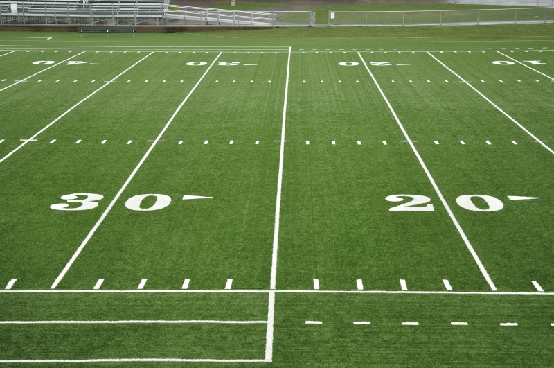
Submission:
[[[391,103],[388,102],[388,99],[386,98],[383,90],[381,89],[381,86],[379,86],[379,83],[377,83],[377,80],[375,79],[375,76],[373,76],[373,73],[371,73],[371,71],[369,70],[368,68],[368,65],[366,64],[366,60],[364,60],[364,58],[361,57],[361,54],[358,53],[359,55],[359,58],[361,59],[361,62],[364,63],[364,66],[366,67],[369,75],[371,76],[371,78],[373,79],[373,82],[375,82],[375,85],[377,86],[377,89],[379,89],[379,92],[381,93],[381,96],[383,97],[383,99],[385,100],[386,102],[386,105],[388,106],[388,109],[391,110],[391,113],[393,114],[394,116],[394,119],[396,120],[396,122],[398,123],[398,126],[400,127],[400,130],[402,130],[402,134],[404,134],[404,137],[406,137],[406,141],[408,141],[411,149],[413,150],[413,153],[415,154],[415,157],[418,158],[418,161],[420,161],[420,165],[421,167],[423,168],[423,170],[425,171],[425,174],[427,175],[427,178],[429,178],[429,182],[431,182],[431,185],[433,186],[433,188],[435,189],[437,195],[438,195],[438,198],[440,198],[440,202],[443,202],[443,206],[445,207],[447,213],[448,213],[448,216],[450,216],[450,219],[452,220],[452,222],[454,222],[454,226],[456,227],[456,229],[458,229],[458,233],[460,233],[460,236],[462,237],[463,239],[463,242],[465,243],[465,246],[467,247],[467,249],[470,251],[470,253],[472,254],[473,256],[473,259],[475,261],[475,263],[477,263],[477,265],[479,266],[479,270],[481,270],[481,274],[483,274],[483,277],[485,278],[485,280],[487,281],[487,283],[489,284],[490,286],[490,289],[492,291],[497,291],[497,287],[494,286],[494,283],[492,282],[492,279],[490,278],[487,270],[485,269],[485,266],[483,265],[483,263],[481,262],[481,259],[479,259],[479,256],[477,255],[477,253],[475,252],[475,249],[473,249],[471,243],[470,243],[470,240],[467,238],[467,236],[465,236],[465,232],[463,231],[462,227],[460,226],[460,224],[458,223],[458,220],[456,220],[456,217],[454,216],[454,213],[452,212],[452,209],[450,209],[448,203],[446,202],[444,196],[443,196],[443,193],[440,192],[440,189],[438,189],[438,186],[435,182],[435,180],[433,179],[433,177],[431,176],[431,173],[429,173],[429,169],[427,169],[427,166],[425,166],[425,163],[423,162],[423,159],[421,158],[418,150],[415,148],[413,142],[411,141],[408,133],[406,132],[406,130],[404,129],[404,125],[402,125],[402,123],[400,123],[400,119],[398,119],[398,116],[396,115],[396,112],[394,111],[393,109],[393,106],[391,105]],[[430,54],[429,54],[430,55]]]

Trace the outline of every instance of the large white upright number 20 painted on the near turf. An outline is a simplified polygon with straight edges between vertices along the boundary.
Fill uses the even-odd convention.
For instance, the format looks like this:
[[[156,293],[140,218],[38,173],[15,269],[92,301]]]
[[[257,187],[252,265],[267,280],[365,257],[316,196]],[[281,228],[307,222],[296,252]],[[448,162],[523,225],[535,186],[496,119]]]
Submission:
[[[386,197],[385,200],[388,200],[388,202],[404,202],[408,198],[411,198],[411,201],[399,204],[395,207],[391,207],[390,209],[388,209],[388,211],[435,211],[433,204],[427,204],[423,207],[416,207],[420,204],[431,202],[431,198],[426,197],[425,195],[393,194]],[[487,208],[477,207],[476,204],[473,202],[473,198],[481,198],[483,201],[485,201]],[[498,198],[482,194],[460,195],[458,198],[456,198],[456,203],[463,209],[477,212],[494,212],[500,211],[504,208],[504,204]]]

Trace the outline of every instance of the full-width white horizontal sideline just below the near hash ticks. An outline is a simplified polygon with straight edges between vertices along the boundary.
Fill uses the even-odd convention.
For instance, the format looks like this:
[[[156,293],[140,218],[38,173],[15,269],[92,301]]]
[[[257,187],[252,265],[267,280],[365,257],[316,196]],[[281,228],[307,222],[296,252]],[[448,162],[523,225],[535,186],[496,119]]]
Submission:
[[[229,293],[229,294],[422,294],[422,295],[549,295],[554,292],[526,292],[526,291],[417,291],[417,290],[0,290],[1,293],[58,293],[58,294],[128,294],[128,293]]]

